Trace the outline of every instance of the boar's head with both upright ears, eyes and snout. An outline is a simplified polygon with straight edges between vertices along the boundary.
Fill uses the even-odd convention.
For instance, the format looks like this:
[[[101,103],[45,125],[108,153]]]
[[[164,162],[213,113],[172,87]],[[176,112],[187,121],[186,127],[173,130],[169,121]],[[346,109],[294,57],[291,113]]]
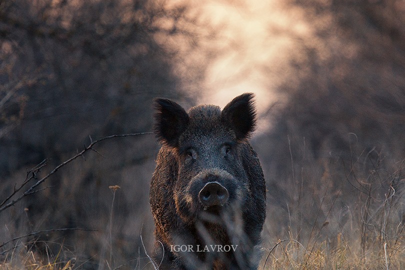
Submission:
[[[255,128],[253,94],[235,97],[223,110],[198,105],[186,112],[161,98],[155,109],[155,134],[176,160],[172,196],[181,219],[193,223],[203,213],[245,204],[251,190],[242,159]]]

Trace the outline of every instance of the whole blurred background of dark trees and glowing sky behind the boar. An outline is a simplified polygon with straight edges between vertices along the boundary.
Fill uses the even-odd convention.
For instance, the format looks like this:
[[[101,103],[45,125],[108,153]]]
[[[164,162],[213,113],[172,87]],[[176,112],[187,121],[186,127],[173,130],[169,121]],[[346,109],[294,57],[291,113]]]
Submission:
[[[371,254],[387,243],[401,268],[404,12],[402,0],[0,1],[0,203],[30,168],[46,159],[46,175],[89,136],[151,131],[154,97],[223,107],[254,92],[263,253],[294,239],[379,267]],[[0,262],[22,265],[11,254],[28,250],[76,268],[142,268],[158,147],[153,135],[100,142],[0,211],[0,244],[96,230],[16,239]],[[265,267],[282,257],[274,251]]]

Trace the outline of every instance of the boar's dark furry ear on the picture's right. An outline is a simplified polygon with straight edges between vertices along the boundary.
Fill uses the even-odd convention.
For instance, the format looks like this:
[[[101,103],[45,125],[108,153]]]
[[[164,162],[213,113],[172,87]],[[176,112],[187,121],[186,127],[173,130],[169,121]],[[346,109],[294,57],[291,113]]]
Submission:
[[[256,127],[253,97],[253,93],[236,96],[221,112],[222,121],[233,129],[238,140],[248,138]]]

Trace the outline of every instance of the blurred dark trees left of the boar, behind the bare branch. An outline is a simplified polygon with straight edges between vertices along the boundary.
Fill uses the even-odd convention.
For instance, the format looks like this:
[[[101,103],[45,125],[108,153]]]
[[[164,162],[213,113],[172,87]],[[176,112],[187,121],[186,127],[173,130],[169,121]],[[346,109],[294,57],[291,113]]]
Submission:
[[[47,158],[46,172],[89,135],[150,131],[156,96],[190,104],[195,96],[180,89],[190,78],[198,85],[204,63],[180,65],[198,48],[195,27],[185,4],[164,0],[0,1],[0,197],[24,180],[26,167]],[[100,146],[104,159],[58,172],[51,187],[2,213],[0,222],[14,229],[0,233],[0,241],[43,228],[97,228],[80,254],[101,259],[108,185],[119,184],[125,191],[114,231],[123,247],[116,254],[137,250],[143,222],[151,236],[145,205],[156,147],[152,135]],[[68,233],[74,235],[64,243],[80,245],[82,232],[62,235]],[[41,239],[52,235],[61,234]]]

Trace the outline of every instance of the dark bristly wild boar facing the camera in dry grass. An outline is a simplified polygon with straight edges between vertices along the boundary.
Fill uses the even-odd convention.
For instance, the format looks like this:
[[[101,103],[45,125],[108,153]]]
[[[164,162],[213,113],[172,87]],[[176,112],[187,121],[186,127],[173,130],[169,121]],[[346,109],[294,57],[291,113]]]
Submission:
[[[162,146],[150,206],[159,269],[256,269],[265,183],[248,142],[256,125],[253,94],[223,110],[198,105],[186,112],[162,98],[154,106]]]

